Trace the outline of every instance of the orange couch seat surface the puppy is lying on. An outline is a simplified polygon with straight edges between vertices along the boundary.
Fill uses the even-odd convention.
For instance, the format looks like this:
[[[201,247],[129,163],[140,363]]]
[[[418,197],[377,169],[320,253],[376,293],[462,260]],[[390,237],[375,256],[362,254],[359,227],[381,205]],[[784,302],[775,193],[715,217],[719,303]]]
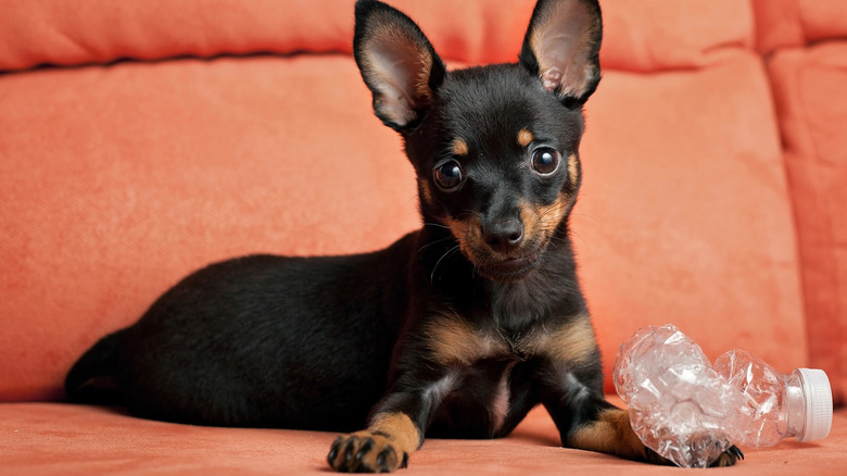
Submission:
[[[151,422],[108,409],[56,403],[0,404],[3,472],[62,474],[290,474],[327,475],[334,434],[275,429],[206,428]],[[558,447],[546,412],[533,410],[515,433],[500,440],[429,439],[402,474],[466,476],[621,474],[679,475],[605,454]],[[840,475],[847,467],[847,412],[835,415],[825,440],[785,441],[767,450],[745,449],[731,471],[742,475]],[[34,458],[37,455],[37,458]]]

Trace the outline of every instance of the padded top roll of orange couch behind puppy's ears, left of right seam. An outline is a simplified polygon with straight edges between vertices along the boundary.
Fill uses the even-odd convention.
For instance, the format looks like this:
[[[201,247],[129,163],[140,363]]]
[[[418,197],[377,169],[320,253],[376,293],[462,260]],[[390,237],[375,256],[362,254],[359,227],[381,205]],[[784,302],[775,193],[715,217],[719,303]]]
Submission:
[[[118,59],[274,52],[350,52],[353,2],[338,0],[90,0],[8,2],[0,71]],[[517,60],[534,0],[394,0],[446,60]],[[605,67],[700,66],[753,41],[751,11],[735,0],[604,4]]]

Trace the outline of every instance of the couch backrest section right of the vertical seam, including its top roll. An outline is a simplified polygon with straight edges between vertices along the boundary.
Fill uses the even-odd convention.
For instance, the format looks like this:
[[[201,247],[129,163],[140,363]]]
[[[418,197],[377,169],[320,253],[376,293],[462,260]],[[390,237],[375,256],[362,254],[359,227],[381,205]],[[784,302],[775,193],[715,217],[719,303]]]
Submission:
[[[847,2],[755,0],[799,243],[809,365],[847,396]]]

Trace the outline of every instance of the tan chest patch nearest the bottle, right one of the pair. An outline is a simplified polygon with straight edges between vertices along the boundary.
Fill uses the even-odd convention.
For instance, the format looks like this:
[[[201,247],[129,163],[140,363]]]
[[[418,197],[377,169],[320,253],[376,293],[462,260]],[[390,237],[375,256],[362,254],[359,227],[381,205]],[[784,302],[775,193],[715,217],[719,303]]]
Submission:
[[[597,340],[587,314],[579,315],[534,341],[535,352],[554,362],[587,363],[595,358]]]

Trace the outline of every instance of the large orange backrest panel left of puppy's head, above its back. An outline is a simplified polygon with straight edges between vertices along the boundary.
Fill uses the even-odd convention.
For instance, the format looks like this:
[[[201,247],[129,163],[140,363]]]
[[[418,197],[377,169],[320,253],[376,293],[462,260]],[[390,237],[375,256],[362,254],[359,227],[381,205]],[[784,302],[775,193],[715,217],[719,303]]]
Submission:
[[[61,398],[98,335],[211,261],[367,251],[418,226],[350,58],[37,71],[0,91],[0,400]]]

